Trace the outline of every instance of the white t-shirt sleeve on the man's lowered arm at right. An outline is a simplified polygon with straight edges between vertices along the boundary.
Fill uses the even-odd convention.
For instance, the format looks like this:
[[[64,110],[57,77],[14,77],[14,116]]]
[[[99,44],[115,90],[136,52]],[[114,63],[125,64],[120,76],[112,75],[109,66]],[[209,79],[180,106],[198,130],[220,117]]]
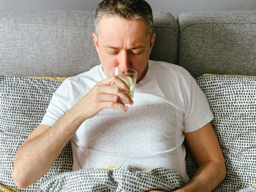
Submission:
[[[207,98],[195,79],[184,69],[184,132],[196,131],[213,120]]]

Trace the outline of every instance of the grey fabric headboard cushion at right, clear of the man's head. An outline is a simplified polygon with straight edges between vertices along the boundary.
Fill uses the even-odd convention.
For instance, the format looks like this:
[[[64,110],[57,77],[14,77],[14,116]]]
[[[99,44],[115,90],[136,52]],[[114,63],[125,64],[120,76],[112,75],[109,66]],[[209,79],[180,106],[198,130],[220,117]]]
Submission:
[[[178,64],[201,74],[256,74],[256,10],[178,15]]]

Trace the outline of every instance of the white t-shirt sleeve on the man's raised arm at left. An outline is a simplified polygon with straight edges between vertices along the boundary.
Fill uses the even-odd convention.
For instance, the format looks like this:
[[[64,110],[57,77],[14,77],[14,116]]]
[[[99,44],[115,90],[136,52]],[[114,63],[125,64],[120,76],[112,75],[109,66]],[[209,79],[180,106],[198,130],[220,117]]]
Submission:
[[[69,110],[69,89],[69,79],[64,80],[56,92],[53,93],[53,97],[50,100],[41,124],[53,126]]]

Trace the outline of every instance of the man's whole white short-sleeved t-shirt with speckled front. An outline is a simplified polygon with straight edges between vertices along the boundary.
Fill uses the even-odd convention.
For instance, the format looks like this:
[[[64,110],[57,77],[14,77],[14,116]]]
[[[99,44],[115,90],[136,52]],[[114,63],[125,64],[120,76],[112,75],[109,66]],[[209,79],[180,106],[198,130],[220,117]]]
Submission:
[[[69,77],[53,93],[42,124],[53,124],[99,80],[102,66]],[[138,169],[164,167],[186,172],[184,133],[213,119],[206,96],[186,69],[148,61],[127,112],[102,110],[84,121],[72,137],[73,170],[129,164]],[[84,107],[86,110],[86,106]]]

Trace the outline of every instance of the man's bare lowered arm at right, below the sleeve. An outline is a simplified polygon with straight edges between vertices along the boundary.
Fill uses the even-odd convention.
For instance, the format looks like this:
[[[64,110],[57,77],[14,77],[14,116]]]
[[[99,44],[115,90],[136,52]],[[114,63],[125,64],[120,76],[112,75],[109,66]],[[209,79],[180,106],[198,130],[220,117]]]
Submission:
[[[213,191],[225,179],[226,167],[211,123],[185,137],[198,168],[192,180],[176,192]]]

